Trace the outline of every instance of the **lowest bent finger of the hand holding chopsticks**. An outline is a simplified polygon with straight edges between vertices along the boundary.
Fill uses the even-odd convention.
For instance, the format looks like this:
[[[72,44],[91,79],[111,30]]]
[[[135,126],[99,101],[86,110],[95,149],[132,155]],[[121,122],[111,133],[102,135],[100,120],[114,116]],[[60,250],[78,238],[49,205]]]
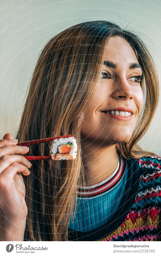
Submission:
[[[7,167],[2,174],[0,175],[0,185],[8,186],[14,179],[14,176],[17,172],[21,172],[23,175],[29,175],[30,171],[21,163],[13,163],[9,167]]]

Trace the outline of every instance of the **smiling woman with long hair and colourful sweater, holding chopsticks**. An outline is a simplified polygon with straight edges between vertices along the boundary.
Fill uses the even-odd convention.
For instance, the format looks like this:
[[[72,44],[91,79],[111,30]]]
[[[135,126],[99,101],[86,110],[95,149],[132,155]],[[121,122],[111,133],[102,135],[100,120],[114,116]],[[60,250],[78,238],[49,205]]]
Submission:
[[[159,240],[161,158],[137,145],[158,95],[153,59],[134,33],[90,21],[53,37],[36,64],[16,138],[73,134],[77,158],[32,161],[29,171],[22,154],[49,155],[51,144],[25,151],[5,134],[0,210],[19,227],[1,218],[0,238]]]

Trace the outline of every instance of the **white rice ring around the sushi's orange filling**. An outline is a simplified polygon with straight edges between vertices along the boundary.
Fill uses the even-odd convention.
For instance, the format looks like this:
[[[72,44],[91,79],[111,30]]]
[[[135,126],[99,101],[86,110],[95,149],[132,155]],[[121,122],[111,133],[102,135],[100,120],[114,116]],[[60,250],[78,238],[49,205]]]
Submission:
[[[50,153],[52,154],[57,154],[58,153],[58,146],[61,144],[67,144],[68,142],[72,142],[73,146],[71,148],[71,150],[69,151],[68,154],[70,154],[73,159],[76,158],[77,155],[77,142],[76,139],[74,139],[74,137],[67,137],[67,138],[59,138],[59,139],[55,139],[52,143],[52,146],[50,147]],[[65,155],[65,153],[63,153],[64,155],[62,155],[61,153],[58,153],[58,157],[60,157],[60,160],[69,160],[69,156]]]

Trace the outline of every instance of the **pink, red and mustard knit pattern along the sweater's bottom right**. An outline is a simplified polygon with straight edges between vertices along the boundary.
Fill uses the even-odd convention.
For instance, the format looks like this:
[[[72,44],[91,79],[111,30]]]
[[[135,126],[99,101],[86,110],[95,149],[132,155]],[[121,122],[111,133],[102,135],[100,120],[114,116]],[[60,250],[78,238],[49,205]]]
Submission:
[[[118,229],[98,241],[160,241],[159,210],[157,207],[149,207],[140,211],[131,210]],[[136,238],[135,234],[138,232],[140,236]],[[145,235],[143,235],[144,232]],[[129,237],[128,240],[127,237]]]

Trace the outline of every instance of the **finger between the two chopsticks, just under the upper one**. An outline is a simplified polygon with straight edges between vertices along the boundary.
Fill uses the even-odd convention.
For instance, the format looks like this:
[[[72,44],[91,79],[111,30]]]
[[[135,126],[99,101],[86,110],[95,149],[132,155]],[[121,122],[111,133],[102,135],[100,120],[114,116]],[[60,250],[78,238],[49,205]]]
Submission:
[[[0,148],[0,158],[4,155],[13,155],[13,154],[26,154],[29,151],[29,147],[10,145]]]

